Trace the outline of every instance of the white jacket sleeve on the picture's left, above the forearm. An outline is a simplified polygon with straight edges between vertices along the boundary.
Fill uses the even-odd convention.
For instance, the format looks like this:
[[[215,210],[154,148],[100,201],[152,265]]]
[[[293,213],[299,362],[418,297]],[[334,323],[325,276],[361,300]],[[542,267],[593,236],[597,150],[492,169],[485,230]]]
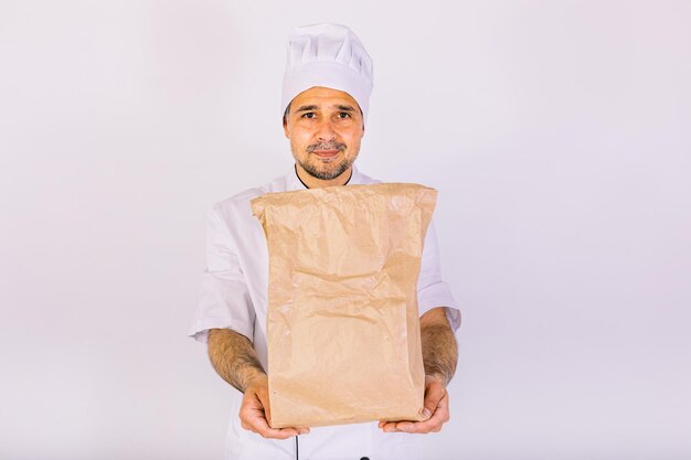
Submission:
[[[206,269],[189,335],[205,343],[210,329],[232,329],[251,341],[254,307],[234,242],[217,206],[208,213]]]

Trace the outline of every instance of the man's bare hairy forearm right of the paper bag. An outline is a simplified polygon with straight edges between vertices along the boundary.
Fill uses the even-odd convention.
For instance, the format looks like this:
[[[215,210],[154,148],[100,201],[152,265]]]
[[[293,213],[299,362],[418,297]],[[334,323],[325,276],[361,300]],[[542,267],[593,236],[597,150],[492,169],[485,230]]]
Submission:
[[[429,324],[421,332],[425,374],[440,377],[444,385],[448,385],[458,362],[458,344],[453,330],[444,324]]]

